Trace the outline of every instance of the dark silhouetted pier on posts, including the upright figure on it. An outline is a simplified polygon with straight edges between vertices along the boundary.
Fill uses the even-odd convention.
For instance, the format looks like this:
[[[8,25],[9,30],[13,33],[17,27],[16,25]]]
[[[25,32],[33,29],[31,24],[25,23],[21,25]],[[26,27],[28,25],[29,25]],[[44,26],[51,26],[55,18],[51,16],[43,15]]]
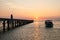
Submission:
[[[4,32],[6,30],[6,28],[5,28],[6,24],[7,24],[7,30],[10,30],[10,26],[13,29],[13,28],[33,22],[33,20],[13,19],[12,15],[11,15],[11,18],[0,18],[0,22],[1,21],[2,21]]]

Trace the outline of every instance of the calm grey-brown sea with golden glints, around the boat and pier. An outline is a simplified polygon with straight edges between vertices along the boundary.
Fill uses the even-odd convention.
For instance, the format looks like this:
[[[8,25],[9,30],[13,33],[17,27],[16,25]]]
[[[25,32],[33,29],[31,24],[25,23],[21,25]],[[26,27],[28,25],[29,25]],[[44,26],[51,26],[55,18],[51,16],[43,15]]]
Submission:
[[[60,21],[45,28],[44,21],[34,22],[0,34],[0,40],[60,40]]]

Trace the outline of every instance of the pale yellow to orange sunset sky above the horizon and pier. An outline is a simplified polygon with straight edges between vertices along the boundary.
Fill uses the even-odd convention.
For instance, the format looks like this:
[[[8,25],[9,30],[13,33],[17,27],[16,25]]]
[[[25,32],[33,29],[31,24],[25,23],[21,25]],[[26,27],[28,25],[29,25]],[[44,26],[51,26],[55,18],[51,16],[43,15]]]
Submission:
[[[0,17],[60,18],[60,0],[0,0]]]

